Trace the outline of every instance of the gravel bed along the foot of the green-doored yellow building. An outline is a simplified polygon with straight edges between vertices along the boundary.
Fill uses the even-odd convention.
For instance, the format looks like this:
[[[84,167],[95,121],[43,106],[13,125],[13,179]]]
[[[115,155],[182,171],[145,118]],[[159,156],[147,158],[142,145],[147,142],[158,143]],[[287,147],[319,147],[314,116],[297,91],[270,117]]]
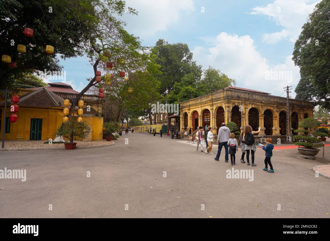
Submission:
[[[46,142],[46,140],[41,140],[41,141],[5,140],[5,148],[64,147],[63,143],[56,143],[50,145],[48,143],[44,144],[44,142]],[[113,143],[113,141],[110,142],[107,140],[91,141],[91,142],[83,142],[83,141],[74,141],[74,142],[77,142],[77,147],[102,146]]]

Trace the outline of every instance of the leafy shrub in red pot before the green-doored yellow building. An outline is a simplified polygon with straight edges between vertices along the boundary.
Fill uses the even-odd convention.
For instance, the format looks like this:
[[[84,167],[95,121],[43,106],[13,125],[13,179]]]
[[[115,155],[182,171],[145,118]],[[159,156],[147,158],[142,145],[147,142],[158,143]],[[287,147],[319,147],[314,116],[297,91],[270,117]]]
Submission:
[[[77,143],[73,142],[74,138],[84,138],[90,133],[90,126],[84,122],[78,122],[72,119],[63,122],[55,132],[56,136],[63,136],[70,140],[70,142],[64,143],[64,147],[67,150],[73,150],[76,148]]]

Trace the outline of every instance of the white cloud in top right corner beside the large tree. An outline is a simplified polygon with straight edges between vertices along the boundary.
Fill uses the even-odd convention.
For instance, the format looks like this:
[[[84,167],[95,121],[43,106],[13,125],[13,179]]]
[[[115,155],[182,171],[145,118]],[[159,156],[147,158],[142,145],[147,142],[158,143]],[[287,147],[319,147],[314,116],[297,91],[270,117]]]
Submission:
[[[311,2],[310,4],[308,4]],[[309,13],[320,1],[310,0],[276,0],[267,6],[255,7],[250,14],[266,15],[276,25],[283,26],[281,32],[265,33],[263,41],[274,44],[282,39],[295,42],[301,32],[301,27],[306,23]]]

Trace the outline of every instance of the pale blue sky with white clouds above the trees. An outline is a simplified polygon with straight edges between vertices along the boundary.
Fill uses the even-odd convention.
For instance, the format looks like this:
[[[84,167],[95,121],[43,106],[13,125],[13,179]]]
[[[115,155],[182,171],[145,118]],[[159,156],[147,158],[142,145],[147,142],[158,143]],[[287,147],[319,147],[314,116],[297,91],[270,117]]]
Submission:
[[[122,19],[127,23],[126,30],[139,36],[145,46],[153,46],[158,39],[187,43],[197,64],[219,69],[235,79],[237,87],[284,96],[283,87],[292,85],[294,90],[299,82],[299,67],[291,60],[293,47],[318,2],[126,0],[127,6],[139,13]],[[93,75],[85,58],[61,64],[66,83],[78,91]],[[288,72],[283,75],[279,71]]]

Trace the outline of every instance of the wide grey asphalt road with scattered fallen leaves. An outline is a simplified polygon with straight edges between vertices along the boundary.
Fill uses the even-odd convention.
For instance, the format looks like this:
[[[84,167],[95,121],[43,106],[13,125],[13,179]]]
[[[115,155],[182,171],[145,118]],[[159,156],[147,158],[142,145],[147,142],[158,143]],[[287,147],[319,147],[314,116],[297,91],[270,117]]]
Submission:
[[[0,152],[0,169],[26,169],[26,181],[0,179],[0,217],[330,218],[325,213],[330,213],[330,179],[311,170],[329,158],[307,160],[296,149],[274,150],[272,174],[262,170],[263,150],[256,151],[257,167],[240,163],[239,150],[234,168],[253,170],[249,181],[226,178],[233,166],[224,162],[224,151],[215,161],[215,155],[196,152],[186,141],[136,132],[115,142]]]

